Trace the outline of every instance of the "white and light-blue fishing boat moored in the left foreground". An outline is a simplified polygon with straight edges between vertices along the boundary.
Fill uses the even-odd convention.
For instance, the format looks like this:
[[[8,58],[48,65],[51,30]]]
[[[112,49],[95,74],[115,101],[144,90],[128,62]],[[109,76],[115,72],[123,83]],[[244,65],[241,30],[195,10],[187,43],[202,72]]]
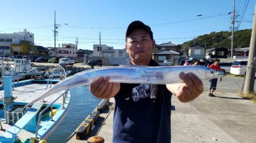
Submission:
[[[0,95],[4,95],[0,99],[1,143],[47,140],[67,114],[71,100],[69,90],[52,94],[26,109],[23,107],[58,81],[31,79],[13,84],[12,76],[4,77],[4,85],[0,86]]]

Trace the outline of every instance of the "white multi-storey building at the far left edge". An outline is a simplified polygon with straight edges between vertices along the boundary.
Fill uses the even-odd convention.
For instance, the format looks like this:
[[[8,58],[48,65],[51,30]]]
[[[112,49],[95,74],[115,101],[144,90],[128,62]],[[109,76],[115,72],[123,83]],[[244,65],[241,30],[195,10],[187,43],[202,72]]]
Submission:
[[[0,55],[10,55],[10,44],[19,44],[21,40],[30,41],[31,45],[34,44],[34,34],[27,32],[24,29],[23,32],[0,33]]]

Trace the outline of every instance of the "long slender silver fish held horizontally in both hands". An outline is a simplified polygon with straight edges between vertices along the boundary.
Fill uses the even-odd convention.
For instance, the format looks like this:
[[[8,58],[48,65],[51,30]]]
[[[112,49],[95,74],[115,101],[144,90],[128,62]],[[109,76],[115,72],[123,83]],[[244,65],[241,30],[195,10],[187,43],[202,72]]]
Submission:
[[[213,79],[225,76],[224,72],[212,70],[205,66],[120,66],[96,68],[76,73],[60,81],[53,88],[46,90],[42,96],[28,103],[23,109],[61,90],[91,84],[97,77],[108,76],[110,77],[110,82],[114,83],[173,84],[183,82],[179,78],[181,72],[195,73],[199,79]]]

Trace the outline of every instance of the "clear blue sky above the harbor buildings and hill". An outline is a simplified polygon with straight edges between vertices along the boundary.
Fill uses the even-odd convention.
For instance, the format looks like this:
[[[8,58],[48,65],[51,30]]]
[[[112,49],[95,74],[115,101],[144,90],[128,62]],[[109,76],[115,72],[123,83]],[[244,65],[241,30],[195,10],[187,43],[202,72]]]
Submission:
[[[247,0],[236,0],[237,14],[242,15]],[[239,29],[253,25],[256,0],[250,0]],[[134,20],[149,25],[156,44],[182,44],[210,32],[230,31],[233,0],[179,0],[179,1],[60,1],[24,0],[3,1],[0,8],[0,33],[23,31],[34,33],[35,44],[54,47],[53,24],[56,10],[56,47],[75,44],[78,49],[93,49],[93,44],[125,48],[125,32]],[[202,16],[197,16],[202,15]],[[237,21],[241,21],[238,16]],[[68,25],[65,25],[68,24]],[[237,24],[236,24],[237,25]]]

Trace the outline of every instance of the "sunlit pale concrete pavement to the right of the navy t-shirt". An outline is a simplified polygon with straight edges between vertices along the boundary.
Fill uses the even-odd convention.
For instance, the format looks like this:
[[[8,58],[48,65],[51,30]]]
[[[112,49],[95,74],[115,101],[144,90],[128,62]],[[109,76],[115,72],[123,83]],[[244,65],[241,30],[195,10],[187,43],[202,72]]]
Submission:
[[[256,142],[256,104],[232,93],[207,92],[189,103],[172,97],[172,142]]]

